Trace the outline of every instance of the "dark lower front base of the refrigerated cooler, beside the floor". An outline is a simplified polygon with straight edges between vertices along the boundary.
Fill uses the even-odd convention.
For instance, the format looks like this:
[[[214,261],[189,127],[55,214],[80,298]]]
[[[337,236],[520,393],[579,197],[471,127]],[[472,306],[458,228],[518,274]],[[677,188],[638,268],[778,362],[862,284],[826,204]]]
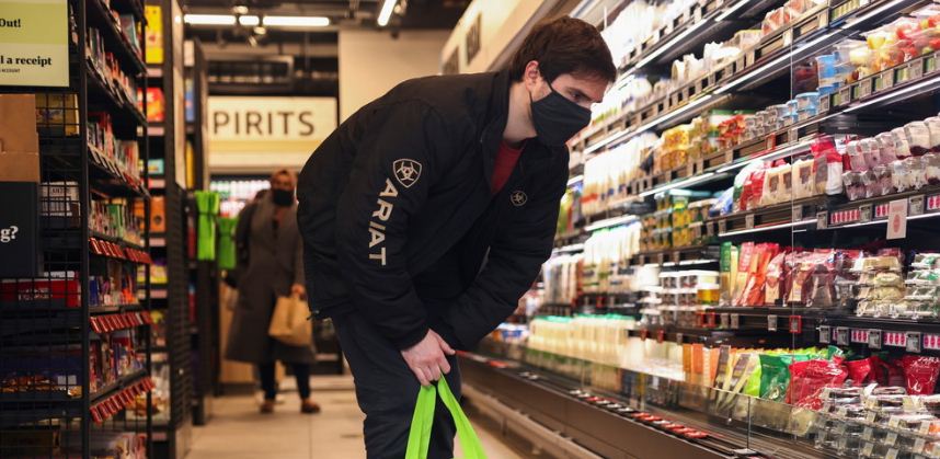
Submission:
[[[653,403],[641,404],[632,395],[597,388],[587,392],[581,381],[525,364],[461,353],[460,368],[465,383],[475,391],[493,395],[603,457],[833,457],[779,433],[753,432],[748,438],[729,427],[729,418],[710,418],[681,406],[670,410]],[[472,405],[473,399],[469,402]],[[689,431],[703,434],[695,437],[702,438],[677,434],[676,429],[666,428],[666,423],[649,416],[644,417],[649,421],[640,421],[637,415],[641,412],[688,426]],[[637,441],[637,438],[643,440]]]

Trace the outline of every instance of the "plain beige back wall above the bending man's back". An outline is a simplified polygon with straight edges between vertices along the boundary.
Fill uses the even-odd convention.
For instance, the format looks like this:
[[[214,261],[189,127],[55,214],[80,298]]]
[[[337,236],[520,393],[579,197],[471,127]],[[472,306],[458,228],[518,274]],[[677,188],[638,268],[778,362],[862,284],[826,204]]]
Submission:
[[[449,31],[340,31],[340,122],[396,84],[440,71]]]

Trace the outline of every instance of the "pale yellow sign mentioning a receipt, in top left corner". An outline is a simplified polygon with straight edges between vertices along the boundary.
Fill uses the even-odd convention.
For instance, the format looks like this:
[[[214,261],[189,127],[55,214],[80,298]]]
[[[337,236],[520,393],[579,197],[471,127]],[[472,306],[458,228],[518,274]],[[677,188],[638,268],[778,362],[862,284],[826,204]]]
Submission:
[[[66,0],[0,0],[0,85],[68,87]]]

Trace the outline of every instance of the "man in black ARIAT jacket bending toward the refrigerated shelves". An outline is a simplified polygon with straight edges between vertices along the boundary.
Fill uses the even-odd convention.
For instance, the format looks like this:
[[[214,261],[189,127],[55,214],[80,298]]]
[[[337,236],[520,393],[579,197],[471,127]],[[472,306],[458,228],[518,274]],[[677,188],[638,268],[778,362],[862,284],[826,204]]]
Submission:
[[[564,142],[617,76],[597,30],[536,26],[501,72],[405,81],[351,116],[300,175],[311,306],[333,318],[369,458],[404,456],[420,385],[506,319],[551,253]],[[438,404],[428,457],[450,459]]]

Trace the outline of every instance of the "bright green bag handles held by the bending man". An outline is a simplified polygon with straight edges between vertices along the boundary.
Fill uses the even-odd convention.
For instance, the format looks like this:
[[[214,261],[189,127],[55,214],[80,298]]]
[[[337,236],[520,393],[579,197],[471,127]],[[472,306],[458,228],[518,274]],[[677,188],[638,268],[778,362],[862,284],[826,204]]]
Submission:
[[[473,426],[470,425],[470,420],[460,408],[460,403],[450,392],[450,387],[447,386],[447,380],[440,378],[437,387],[422,387],[417,392],[417,402],[414,404],[414,415],[411,417],[411,429],[408,434],[408,450],[404,454],[405,459],[426,459],[427,448],[431,444],[431,426],[434,424],[434,406],[437,404],[437,395],[440,394],[440,401],[450,411],[454,416],[454,424],[457,426],[457,437],[460,438],[460,446],[463,448],[463,459],[486,459],[483,452],[483,445],[477,433],[473,432]]]

